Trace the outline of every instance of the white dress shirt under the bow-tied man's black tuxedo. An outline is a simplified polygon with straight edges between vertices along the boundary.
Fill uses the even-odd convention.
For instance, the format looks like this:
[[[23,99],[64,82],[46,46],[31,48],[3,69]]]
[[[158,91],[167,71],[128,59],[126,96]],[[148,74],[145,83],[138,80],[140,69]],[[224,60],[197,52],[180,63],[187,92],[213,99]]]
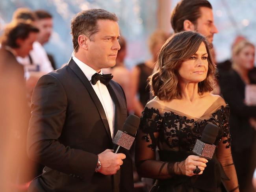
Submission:
[[[87,79],[91,83],[91,76],[93,76],[95,73],[97,73],[93,68],[89,67],[79,59],[77,59],[73,55],[74,62],[79,66],[79,68],[82,70],[82,72],[85,74]],[[102,74],[102,70],[100,71],[100,74]],[[108,119],[108,125],[111,133],[111,137],[113,138],[113,133],[115,129],[115,103],[113,102],[106,85],[103,83],[100,83],[100,81],[97,81],[95,85],[91,84],[96,95],[98,96],[102,107],[105,111],[105,114]]]

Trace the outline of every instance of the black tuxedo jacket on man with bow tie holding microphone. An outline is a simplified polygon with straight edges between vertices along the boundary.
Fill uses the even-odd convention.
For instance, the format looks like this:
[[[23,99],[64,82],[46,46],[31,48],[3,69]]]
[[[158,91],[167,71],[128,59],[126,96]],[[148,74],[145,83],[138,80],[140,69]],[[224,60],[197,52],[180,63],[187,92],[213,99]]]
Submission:
[[[120,85],[107,86],[115,103],[115,132],[127,117]],[[125,192],[133,190],[128,151],[121,173],[95,173],[97,154],[113,143],[104,109],[91,83],[71,58],[69,64],[41,77],[32,96],[28,154],[45,165],[30,191]],[[120,178],[121,175],[121,178]],[[119,186],[120,188],[116,187]],[[117,189],[118,188],[118,189]]]

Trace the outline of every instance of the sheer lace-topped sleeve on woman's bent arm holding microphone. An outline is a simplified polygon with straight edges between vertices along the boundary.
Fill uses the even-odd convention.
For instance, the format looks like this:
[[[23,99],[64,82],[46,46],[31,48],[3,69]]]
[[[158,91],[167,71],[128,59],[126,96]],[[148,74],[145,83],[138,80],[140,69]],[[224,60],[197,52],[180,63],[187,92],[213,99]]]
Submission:
[[[141,177],[168,179],[176,174],[181,175],[182,170],[185,170],[183,161],[175,163],[156,161],[155,150],[161,123],[162,117],[159,111],[145,107],[135,143],[135,164]]]

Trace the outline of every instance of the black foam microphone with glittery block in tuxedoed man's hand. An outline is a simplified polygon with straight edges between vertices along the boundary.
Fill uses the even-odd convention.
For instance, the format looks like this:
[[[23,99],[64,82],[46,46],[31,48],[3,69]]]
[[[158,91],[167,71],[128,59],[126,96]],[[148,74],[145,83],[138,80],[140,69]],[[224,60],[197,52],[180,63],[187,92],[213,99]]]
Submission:
[[[124,122],[122,131],[118,130],[113,139],[113,143],[117,145],[114,153],[118,153],[119,148],[130,150],[135,140],[135,135],[139,127],[140,118],[134,114],[130,114]]]

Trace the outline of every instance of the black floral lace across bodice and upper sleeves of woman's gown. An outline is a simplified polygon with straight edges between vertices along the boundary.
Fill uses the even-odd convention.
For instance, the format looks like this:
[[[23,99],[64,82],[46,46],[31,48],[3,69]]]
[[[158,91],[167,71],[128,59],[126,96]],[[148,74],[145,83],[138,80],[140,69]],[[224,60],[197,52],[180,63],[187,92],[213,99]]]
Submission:
[[[139,129],[145,133],[142,137],[145,142],[150,142],[150,138],[152,138],[148,145],[152,150],[155,150],[158,145],[159,150],[192,151],[196,140],[201,138],[204,127],[208,123],[212,123],[219,127],[214,144],[218,146],[224,137],[223,144],[226,144],[226,148],[230,148],[228,118],[228,105],[222,105],[211,114],[210,118],[203,120],[189,119],[172,111],[161,115],[158,109],[145,107]],[[159,133],[157,139],[154,137],[154,133]]]

